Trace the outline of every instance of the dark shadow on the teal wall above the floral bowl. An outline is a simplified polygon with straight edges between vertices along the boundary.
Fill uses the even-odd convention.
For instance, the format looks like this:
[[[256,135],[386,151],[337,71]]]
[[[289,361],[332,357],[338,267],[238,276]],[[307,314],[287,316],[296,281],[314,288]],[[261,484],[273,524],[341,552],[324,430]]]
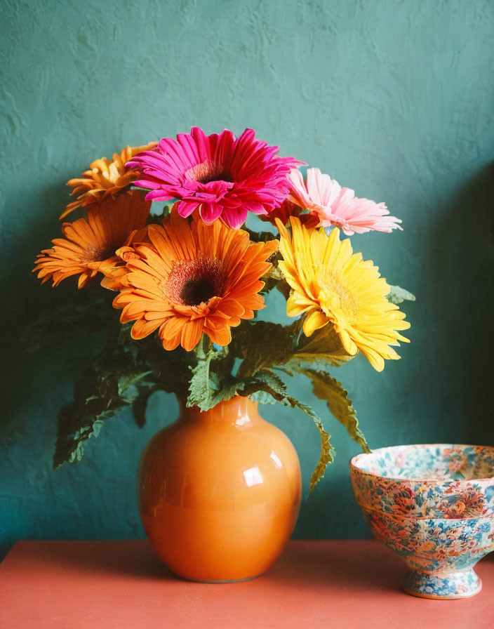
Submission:
[[[439,365],[435,377],[453,378],[450,395],[463,409],[458,436],[465,443],[486,445],[494,445],[493,199],[494,163],[455,194],[430,240],[441,243],[441,252],[430,251],[429,265],[425,265],[429,284],[439,293],[441,317],[448,331],[453,331],[453,336],[441,338],[441,355],[447,364],[443,371]],[[440,325],[441,321],[436,322],[436,329]]]

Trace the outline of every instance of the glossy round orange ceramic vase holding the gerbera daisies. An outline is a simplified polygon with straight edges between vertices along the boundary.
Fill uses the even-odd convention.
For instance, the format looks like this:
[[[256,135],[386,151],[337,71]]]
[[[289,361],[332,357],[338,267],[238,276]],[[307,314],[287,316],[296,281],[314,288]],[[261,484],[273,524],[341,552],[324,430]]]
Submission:
[[[236,396],[211,411],[182,408],[142,454],[139,508],[171,571],[194,581],[243,581],[265,572],[300,508],[290,439]]]

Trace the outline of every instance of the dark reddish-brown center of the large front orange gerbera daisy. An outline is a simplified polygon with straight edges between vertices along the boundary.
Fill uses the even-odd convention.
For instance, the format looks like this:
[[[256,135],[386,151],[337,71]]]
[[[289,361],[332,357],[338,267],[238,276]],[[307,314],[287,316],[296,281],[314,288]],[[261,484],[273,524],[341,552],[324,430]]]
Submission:
[[[221,297],[226,280],[220,260],[199,255],[195,260],[173,263],[163,291],[175,303],[198,306],[212,297]]]

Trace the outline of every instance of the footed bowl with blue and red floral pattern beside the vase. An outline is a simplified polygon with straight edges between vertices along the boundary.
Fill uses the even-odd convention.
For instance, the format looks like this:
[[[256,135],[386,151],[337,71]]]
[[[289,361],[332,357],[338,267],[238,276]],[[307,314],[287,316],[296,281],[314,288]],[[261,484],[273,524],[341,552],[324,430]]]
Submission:
[[[395,446],[350,461],[357,503],[375,538],[404,557],[415,596],[472,596],[473,567],[494,550],[494,447]]]

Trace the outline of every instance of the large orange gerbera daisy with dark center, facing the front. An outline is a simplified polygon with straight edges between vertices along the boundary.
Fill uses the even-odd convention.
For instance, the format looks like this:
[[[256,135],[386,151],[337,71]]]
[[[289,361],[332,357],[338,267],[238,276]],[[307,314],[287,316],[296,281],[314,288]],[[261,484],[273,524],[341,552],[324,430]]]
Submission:
[[[133,338],[159,330],[166,350],[190,351],[204,332],[228,345],[230,328],[264,307],[260,277],[278,241],[252,243],[220,220],[189,224],[175,210],[163,226],[149,225],[148,236],[150,244],[134,246],[138,257],[128,260],[126,288],[113,302],[123,308],[122,323],[135,321]]]

